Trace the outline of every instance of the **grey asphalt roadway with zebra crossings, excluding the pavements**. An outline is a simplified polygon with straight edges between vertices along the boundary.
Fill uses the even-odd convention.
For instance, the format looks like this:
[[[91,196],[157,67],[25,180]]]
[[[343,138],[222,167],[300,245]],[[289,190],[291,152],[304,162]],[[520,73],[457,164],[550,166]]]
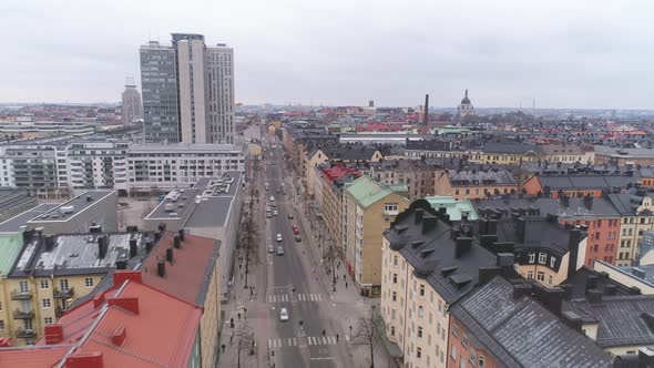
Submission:
[[[266,303],[269,338],[265,345],[268,355],[270,356],[274,351],[272,361],[275,367],[354,367],[349,346],[345,339],[346,333],[337,320],[339,314],[348,313],[348,310],[344,306],[331,303],[329,294],[316,278],[315,266],[310,263],[306,249],[307,239],[311,234],[304,233],[300,227],[302,241],[299,243],[295,241],[292,226],[298,223],[297,218],[289,219],[288,214],[293,213],[294,217],[300,215],[292,198],[292,191],[296,188],[288,187],[287,184],[285,188],[287,194],[282,194],[284,159],[279,143],[275,143],[276,150],[272,150],[269,141],[265,144],[266,175],[260,175],[262,181],[269,183],[269,190],[266,191],[266,205],[279,213],[278,216],[266,219],[266,239],[262,245],[267,249],[268,244],[273,244],[275,248],[273,254],[264,251],[265,262],[263,262],[267,272]],[[274,157],[270,156],[270,152]],[[277,190],[280,193],[277,193]],[[275,201],[270,202],[270,196],[274,196]],[[282,234],[282,242],[276,241],[277,234]],[[276,254],[278,245],[284,247],[283,256]],[[289,320],[279,320],[282,307],[288,309]]]

